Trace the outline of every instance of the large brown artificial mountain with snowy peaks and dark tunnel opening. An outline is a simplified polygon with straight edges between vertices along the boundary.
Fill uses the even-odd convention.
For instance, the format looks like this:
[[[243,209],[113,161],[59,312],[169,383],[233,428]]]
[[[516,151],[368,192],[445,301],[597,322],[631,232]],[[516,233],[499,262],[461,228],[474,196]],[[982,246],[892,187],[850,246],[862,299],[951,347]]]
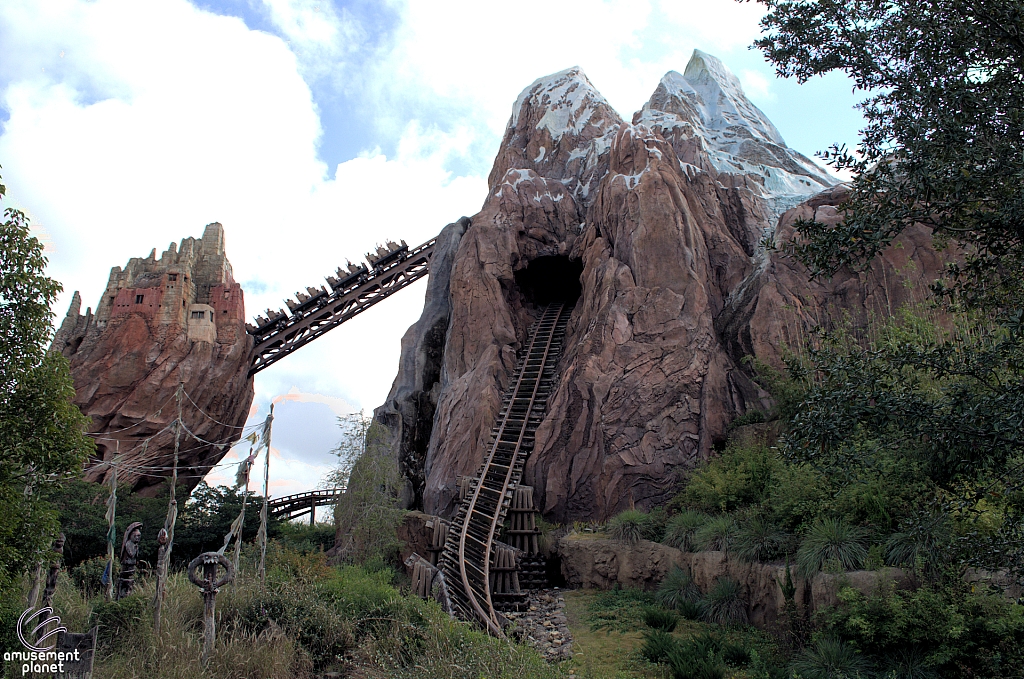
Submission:
[[[813,285],[765,249],[800,217],[840,218],[835,182],[702,52],[666,75],[633,124],[579,69],[535,82],[515,103],[482,209],[444,231],[445,263],[431,265],[427,309],[376,412],[408,504],[452,513],[527,329],[556,299],[574,310],[523,482],[563,522],[670,498],[732,419],[769,406],[744,355],[778,364],[822,316],[893,308],[936,278],[924,231],[870,273]]]

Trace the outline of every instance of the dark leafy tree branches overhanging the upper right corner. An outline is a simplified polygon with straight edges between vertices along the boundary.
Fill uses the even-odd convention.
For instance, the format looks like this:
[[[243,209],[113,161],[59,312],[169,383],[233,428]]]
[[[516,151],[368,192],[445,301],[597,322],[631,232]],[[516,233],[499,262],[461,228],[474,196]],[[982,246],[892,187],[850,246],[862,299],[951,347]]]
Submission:
[[[817,274],[865,265],[908,225],[931,226],[966,259],[964,299],[1019,305],[1024,282],[1024,5],[1020,0],[758,0],[757,41],[783,77],[842,71],[867,96],[854,152],[824,154],[854,175],[837,226],[798,225]],[[1011,306],[1013,305],[1012,302]]]

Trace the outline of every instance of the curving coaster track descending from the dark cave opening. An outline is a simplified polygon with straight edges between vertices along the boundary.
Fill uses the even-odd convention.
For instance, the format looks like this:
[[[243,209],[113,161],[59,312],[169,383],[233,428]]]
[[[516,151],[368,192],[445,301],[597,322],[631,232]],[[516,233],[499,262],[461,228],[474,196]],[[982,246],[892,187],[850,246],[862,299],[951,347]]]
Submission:
[[[489,577],[495,538],[544,419],[570,310],[560,302],[549,304],[530,330],[490,432],[490,449],[475,486],[452,522],[442,552],[441,569],[455,612],[479,621],[499,637],[504,632],[492,601]]]

